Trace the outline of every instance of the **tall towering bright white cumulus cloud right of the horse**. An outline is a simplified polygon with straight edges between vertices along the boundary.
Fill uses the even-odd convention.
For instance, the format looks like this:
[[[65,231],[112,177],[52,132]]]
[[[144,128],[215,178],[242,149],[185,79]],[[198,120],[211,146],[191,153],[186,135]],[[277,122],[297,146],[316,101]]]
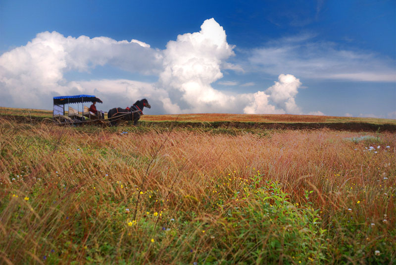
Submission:
[[[235,101],[211,87],[211,83],[223,77],[221,64],[235,55],[226,34],[213,18],[201,25],[195,33],[179,35],[169,41],[163,52],[163,69],[159,75],[159,86],[176,90],[177,101],[187,106],[184,112],[222,111]]]

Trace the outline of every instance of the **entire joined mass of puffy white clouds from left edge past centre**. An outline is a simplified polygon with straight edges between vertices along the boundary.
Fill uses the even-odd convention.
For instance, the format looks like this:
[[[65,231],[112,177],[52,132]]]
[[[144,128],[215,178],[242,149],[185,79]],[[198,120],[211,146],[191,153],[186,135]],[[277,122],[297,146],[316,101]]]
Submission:
[[[147,98],[152,106],[149,114],[302,113],[295,102],[301,82],[292,74],[279,75],[273,86],[256,93],[214,89],[211,84],[223,77],[222,70],[244,71],[227,62],[235,55],[234,48],[213,18],[205,20],[199,32],[178,35],[165,50],[135,39],[74,38],[43,32],[27,45],[1,54],[0,105],[6,100],[8,106],[51,108],[53,96],[93,94],[102,99],[99,109],[105,111]],[[158,81],[89,79],[90,71],[98,66],[154,75]],[[85,80],[65,78],[66,72],[76,71],[84,73]],[[218,84],[235,86],[238,82]]]

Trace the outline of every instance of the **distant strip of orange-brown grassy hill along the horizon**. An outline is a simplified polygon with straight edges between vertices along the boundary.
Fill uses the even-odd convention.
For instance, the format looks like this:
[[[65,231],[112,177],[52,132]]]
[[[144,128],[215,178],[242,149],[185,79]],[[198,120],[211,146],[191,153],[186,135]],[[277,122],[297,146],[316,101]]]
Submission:
[[[67,113],[67,112],[66,112]],[[52,117],[51,110],[0,107],[0,115],[16,119],[43,120]],[[105,114],[105,118],[106,118]],[[25,119],[22,119],[25,120]],[[143,126],[201,127],[237,129],[319,129],[350,131],[396,131],[395,119],[337,117],[292,114],[224,114],[195,113],[174,115],[143,115]]]

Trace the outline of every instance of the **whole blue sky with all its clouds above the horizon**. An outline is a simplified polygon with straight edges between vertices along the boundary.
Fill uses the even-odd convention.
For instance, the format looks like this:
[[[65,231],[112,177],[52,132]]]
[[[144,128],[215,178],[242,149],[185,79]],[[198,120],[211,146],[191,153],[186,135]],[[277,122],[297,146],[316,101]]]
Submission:
[[[0,0],[0,106],[79,94],[103,111],[396,119],[396,1]]]

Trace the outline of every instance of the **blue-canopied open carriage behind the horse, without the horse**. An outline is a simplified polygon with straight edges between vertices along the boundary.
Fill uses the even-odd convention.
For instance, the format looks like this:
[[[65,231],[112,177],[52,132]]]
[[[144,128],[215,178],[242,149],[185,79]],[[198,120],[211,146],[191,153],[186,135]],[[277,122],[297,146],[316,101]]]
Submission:
[[[91,112],[88,106],[84,106],[84,103],[88,102],[103,103],[99,98],[93,95],[53,97],[52,119],[60,124],[79,124],[93,121],[103,121],[104,112],[98,111],[97,114]],[[70,106],[70,104],[77,104],[77,106],[74,108]],[[68,105],[67,115],[65,111],[65,105]]]

